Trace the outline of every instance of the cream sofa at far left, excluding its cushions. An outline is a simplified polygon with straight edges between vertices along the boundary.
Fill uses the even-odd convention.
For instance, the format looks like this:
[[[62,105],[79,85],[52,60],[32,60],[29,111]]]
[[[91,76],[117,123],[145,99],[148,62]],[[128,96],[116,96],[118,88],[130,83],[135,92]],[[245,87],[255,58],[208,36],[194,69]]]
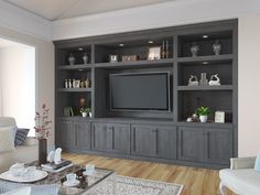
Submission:
[[[15,126],[13,118],[0,117],[0,127]],[[28,163],[37,159],[37,144],[30,139],[22,147],[17,147],[12,152],[0,153],[0,173],[15,162]]]

